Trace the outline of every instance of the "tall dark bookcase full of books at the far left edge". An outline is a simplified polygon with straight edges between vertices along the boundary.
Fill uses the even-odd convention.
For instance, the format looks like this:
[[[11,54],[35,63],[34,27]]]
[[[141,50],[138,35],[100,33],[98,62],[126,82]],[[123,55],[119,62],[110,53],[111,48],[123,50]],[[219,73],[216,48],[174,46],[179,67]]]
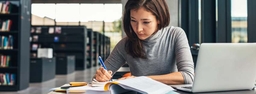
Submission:
[[[8,67],[0,67],[1,74],[9,75],[9,84],[3,85],[0,81],[0,91],[23,90],[29,87],[30,33],[28,31],[30,30],[31,3],[30,0],[0,0],[0,3],[2,5],[9,3],[8,8],[4,9],[6,12],[3,12],[3,7],[1,7],[0,36],[1,38],[2,36],[8,37],[8,42],[1,40],[1,43],[6,44],[7,48],[1,49],[0,54],[10,56]],[[6,26],[3,28],[4,21]]]

